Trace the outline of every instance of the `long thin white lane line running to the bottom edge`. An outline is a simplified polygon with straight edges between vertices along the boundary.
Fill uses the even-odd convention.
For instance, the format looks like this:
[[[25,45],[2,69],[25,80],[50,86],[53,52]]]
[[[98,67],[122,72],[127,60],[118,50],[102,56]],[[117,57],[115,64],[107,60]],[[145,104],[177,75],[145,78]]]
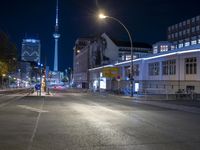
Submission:
[[[43,101],[42,101],[42,105],[41,105],[41,107],[40,107],[40,110],[43,110],[44,99],[45,99],[45,97],[43,98]],[[38,116],[37,116],[37,120],[36,120],[35,127],[34,127],[34,130],[33,130],[31,139],[30,139],[30,143],[29,143],[29,146],[28,146],[28,150],[31,150],[31,149],[32,149],[32,143],[33,143],[33,140],[34,140],[35,135],[36,135],[36,132],[37,132],[37,128],[38,128],[38,124],[39,124],[39,120],[40,120],[41,113],[42,113],[42,112],[40,111],[39,114],[38,114]]]

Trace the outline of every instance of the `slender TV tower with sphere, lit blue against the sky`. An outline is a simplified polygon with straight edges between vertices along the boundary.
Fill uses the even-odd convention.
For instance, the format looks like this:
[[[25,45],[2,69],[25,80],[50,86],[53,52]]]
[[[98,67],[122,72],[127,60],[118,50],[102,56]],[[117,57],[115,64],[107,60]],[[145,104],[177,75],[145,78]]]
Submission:
[[[58,25],[58,0],[56,3],[56,25],[55,25],[55,32],[53,37],[55,39],[55,51],[54,51],[54,71],[58,71],[58,39],[60,38],[60,34],[58,32],[59,25]]]

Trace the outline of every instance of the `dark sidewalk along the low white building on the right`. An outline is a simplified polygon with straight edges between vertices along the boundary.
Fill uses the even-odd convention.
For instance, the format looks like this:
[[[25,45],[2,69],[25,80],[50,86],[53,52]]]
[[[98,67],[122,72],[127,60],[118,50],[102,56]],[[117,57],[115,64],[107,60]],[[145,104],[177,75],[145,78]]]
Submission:
[[[142,97],[130,97],[130,96],[120,96],[120,95],[111,95],[115,97],[121,97],[125,100],[133,100],[135,103],[151,105],[156,107],[162,107],[167,109],[180,110],[191,113],[200,114],[200,101],[199,100],[147,100]]]

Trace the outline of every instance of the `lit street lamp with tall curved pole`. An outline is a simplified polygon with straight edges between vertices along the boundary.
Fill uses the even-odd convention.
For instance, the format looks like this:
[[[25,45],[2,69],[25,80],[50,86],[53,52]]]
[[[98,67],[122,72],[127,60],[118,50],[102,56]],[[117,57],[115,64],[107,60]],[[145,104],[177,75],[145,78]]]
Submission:
[[[130,44],[131,44],[131,76],[130,76],[130,86],[131,86],[131,97],[133,97],[133,41],[132,41],[132,38],[131,38],[131,34],[129,32],[129,30],[127,29],[127,27],[117,18],[115,17],[111,17],[111,16],[107,16],[107,15],[104,15],[102,13],[99,14],[99,19],[112,19],[114,21],[117,21],[120,25],[123,26],[123,28],[126,30],[127,34],[128,34],[128,37],[129,37],[129,41],[130,41]]]

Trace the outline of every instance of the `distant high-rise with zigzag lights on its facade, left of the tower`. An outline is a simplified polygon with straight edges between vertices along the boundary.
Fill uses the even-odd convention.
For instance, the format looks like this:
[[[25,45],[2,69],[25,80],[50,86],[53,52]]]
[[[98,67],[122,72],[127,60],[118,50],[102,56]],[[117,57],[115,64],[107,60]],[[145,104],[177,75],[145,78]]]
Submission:
[[[21,59],[23,61],[40,62],[40,40],[25,38],[22,41]]]

